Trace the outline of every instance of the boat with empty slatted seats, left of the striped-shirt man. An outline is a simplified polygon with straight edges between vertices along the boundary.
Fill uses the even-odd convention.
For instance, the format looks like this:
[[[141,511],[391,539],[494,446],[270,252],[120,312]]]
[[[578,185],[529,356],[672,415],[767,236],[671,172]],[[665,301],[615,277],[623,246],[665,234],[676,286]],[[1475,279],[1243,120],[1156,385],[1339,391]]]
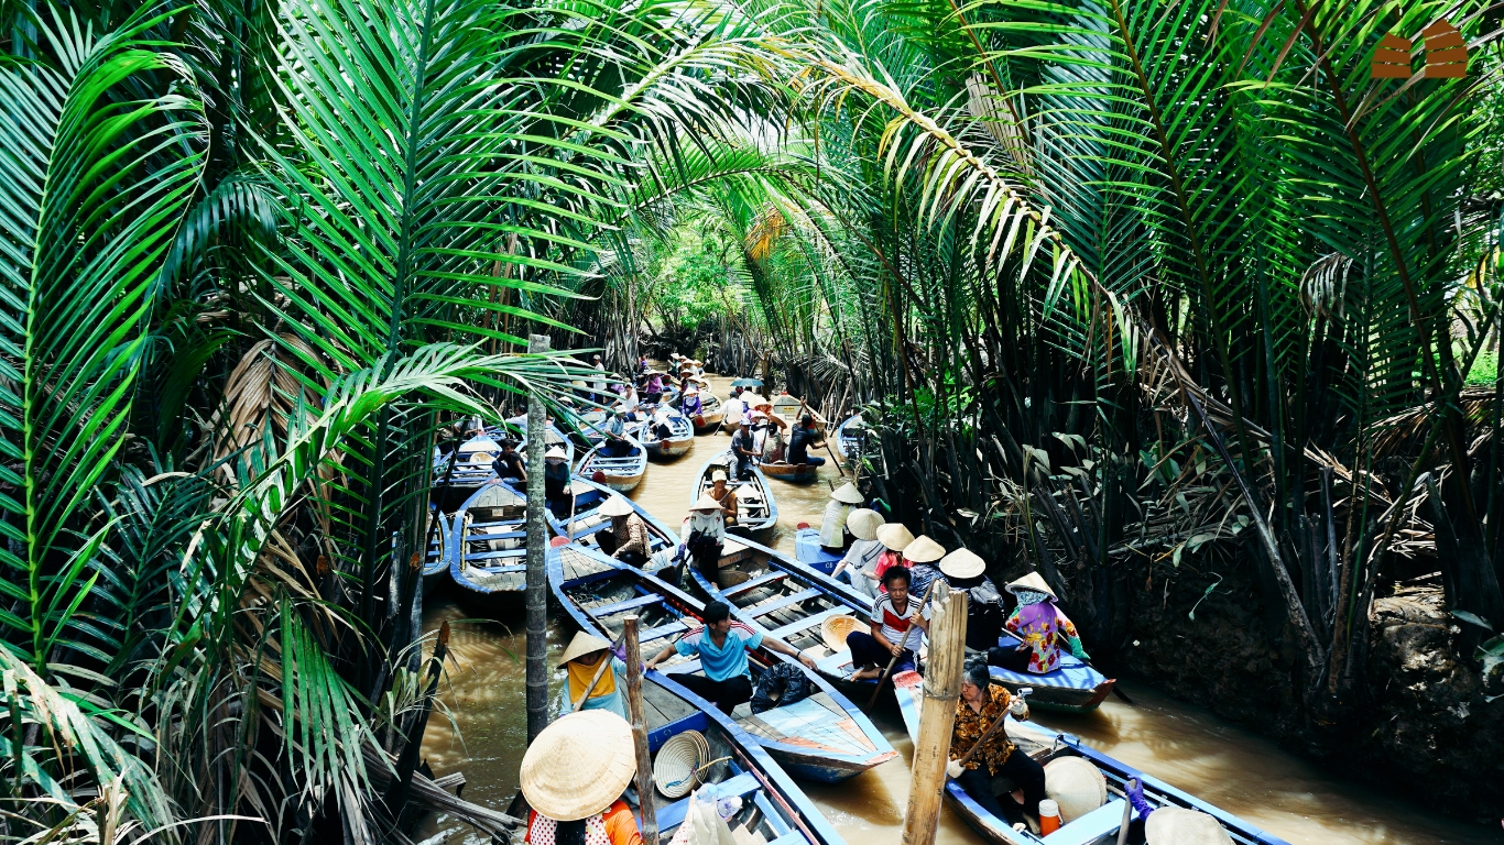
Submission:
[[[830,616],[853,616],[859,630],[866,628],[872,603],[860,592],[750,540],[726,538],[722,546],[725,586],[717,588],[695,568],[690,576],[707,595],[729,604],[735,618],[818,656],[815,666],[827,681],[871,695],[875,681],[851,681],[851,650],[832,651],[821,639],[821,625]]]

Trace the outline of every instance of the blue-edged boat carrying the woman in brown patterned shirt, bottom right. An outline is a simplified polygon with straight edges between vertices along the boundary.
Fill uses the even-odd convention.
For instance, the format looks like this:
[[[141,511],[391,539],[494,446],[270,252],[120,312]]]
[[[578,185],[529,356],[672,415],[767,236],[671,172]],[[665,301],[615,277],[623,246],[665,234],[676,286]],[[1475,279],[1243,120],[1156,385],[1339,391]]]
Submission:
[[[904,672],[893,680],[898,708],[904,716],[904,726],[908,729],[910,738],[919,735],[919,713],[923,702],[922,687],[923,680],[916,672]],[[1032,696],[1030,705],[1033,705]],[[1008,738],[1018,746],[1018,752],[1014,753],[1027,753],[1041,764],[1048,764],[1062,756],[1078,756],[1095,765],[1107,779],[1107,803],[1066,822],[1050,836],[1041,837],[1027,830],[1014,830],[1008,821],[982,809],[955,780],[948,779],[945,795],[951,807],[961,813],[961,818],[988,842],[996,845],[1042,845],[1045,842],[1050,845],[1110,845],[1119,842],[1117,831],[1122,827],[1126,803],[1123,786],[1130,779],[1137,779],[1143,783],[1143,795],[1152,806],[1184,807],[1208,813],[1239,845],[1289,845],[1283,839],[1265,833],[1232,813],[1223,812],[1151,774],[1145,774],[1086,746],[1081,740],[1069,734],[1056,734],[1032,722],[1018,722],[1012,716],[1008,716],[1003,729],[1008,731]]]

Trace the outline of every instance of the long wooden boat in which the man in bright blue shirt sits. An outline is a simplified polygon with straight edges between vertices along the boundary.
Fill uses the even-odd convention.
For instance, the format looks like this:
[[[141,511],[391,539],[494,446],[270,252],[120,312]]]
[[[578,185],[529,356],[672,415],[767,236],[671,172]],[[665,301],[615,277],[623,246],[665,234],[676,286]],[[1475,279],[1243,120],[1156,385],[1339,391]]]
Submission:
[[[660,651],[671,636],[701,627],[702,606],[689,594],[579,544],[549,550],[549,586],[575,622],[606,641],[621,631],[621,618],[639,618],[644,659]],[[791,660],[767,648],[750,654],[754,678],[775,660]],[[665,663],[666,680],[696,675],[699,660],[674,656]],[[651,675],[657,675],[653,672]],[[817,692],[802,701],[754,714],[743,704],[732,722],[794,776],[823,783],[845,780],[898,758],[881,731],[820,677],[809,674]],[[702,699],[701,699],[702,701]],[[705,711],[714,705],[702,702]]]

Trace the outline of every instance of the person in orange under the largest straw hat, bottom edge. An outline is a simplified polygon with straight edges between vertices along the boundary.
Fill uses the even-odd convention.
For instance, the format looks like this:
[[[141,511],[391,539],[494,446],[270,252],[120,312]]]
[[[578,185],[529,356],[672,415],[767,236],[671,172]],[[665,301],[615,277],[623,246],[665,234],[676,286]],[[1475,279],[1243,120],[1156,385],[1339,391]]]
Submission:
[[[621,798],[638,771],[632,725],[608,710],[564,716],[522,755],[528,845],[642,845]]]

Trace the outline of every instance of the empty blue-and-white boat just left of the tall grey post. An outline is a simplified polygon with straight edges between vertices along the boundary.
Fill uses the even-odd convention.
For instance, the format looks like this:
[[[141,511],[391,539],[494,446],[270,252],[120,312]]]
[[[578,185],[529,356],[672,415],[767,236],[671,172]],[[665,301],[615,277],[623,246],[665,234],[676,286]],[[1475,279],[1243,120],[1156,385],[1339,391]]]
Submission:
[[[522,606],[528,582],[528,499],[496,481],[475,490],[454,514],[450,577],[460,600],[487,613]]]

